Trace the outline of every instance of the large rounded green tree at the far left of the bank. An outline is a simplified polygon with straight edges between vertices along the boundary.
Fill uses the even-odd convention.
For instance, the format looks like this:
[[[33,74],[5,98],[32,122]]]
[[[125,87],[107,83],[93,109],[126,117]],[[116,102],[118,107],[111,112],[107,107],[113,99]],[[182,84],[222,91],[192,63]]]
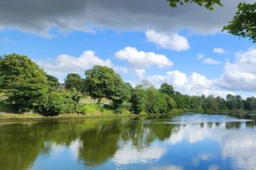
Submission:
[[[0,58],[0,89],[7,104],[18,112],[35,108],[47,93],[45,72],[27,56],[10,54]]]

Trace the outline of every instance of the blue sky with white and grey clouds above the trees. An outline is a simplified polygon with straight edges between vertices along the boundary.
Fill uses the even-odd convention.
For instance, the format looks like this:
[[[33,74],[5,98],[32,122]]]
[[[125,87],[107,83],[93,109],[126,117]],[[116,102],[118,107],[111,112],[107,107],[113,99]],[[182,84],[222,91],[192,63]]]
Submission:
[[[221,31],[239,2],[209,11],[165,0],[3,0],[0,55],[27,55],[61,82],[106,65],[133,86],[246,98],[256,95],[256,46]]]

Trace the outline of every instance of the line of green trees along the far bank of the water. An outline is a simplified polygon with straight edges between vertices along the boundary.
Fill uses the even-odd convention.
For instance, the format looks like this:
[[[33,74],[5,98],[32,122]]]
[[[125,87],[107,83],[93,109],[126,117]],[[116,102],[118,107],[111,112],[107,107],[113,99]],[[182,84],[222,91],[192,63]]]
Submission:
[[[64,85],[64,86],[62,86]],[[171,113],[184,111],[225,111],[227,109],[256,109],[254,97],[243,100],[241,96],[221,97],[188,96],[174,91],[171,84],[163,83],[156,89],[147,81],[135,87],[125,83],[120,75],[106,66],[95,65],[85,71],[85,79],[70,73],[65,84],[45,73],[27,56],[18,54],[0,57],[0,109],[12,112],[37,112],[44,115],[62,113],[88,113],[89,104],[79,102],[90,96],[100,112],[115,113]],[[101,104],[102,98],[111,101]]]

